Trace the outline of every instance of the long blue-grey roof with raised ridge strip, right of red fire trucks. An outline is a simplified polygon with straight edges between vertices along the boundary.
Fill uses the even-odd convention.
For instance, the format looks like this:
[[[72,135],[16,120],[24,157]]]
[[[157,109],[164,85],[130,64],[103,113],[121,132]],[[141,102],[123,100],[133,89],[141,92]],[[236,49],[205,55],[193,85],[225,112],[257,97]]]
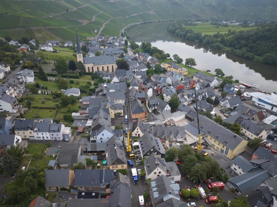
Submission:
[[[259,186],[268,178],[270,178],[270,175],[265,170],[257,168],[248,173],[229,179],[228,183],[232,186],[237,186],[240,192],[245,192],[251,188]]]

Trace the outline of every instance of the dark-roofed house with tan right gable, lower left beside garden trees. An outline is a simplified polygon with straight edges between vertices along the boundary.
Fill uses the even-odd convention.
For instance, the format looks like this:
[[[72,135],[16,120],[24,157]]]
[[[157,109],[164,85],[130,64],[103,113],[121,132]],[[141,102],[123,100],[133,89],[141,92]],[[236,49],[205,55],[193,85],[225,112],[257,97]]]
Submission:
[[[45,170],[46,190],[61,190],[61,188],[69,189],[74,183],[74,170]]]

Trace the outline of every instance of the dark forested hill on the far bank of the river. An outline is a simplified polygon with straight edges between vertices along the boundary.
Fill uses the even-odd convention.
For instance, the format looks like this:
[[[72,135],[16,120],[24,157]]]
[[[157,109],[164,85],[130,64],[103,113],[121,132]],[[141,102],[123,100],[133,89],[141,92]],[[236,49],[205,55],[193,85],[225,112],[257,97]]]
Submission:
[[[167,30],[175,35],[195,40],[214,49],[224,49],[236,56],[266,64],[277,65],[277,24],[258,24],[254,29],[245,28],[239,32],[228,30],[227,33],[213,35],[194,32],[187,21],[171,22]],[[218,26],[214,26],[215,30]],[[247,30],[249,29],[249,30]]]

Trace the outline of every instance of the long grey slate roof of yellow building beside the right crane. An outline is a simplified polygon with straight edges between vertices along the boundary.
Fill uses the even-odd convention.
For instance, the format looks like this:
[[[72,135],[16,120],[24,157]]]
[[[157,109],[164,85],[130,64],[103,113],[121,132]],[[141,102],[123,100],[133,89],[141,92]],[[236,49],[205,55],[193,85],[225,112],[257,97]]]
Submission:
[[[242,141],[243,138],[236,135],[232,131],[226,129],[206,116],[199,115],[200,129],[218,142],[227,146],[229,149],[234,150]],[[197,120],[191,122],[191,124],[197,127]]]

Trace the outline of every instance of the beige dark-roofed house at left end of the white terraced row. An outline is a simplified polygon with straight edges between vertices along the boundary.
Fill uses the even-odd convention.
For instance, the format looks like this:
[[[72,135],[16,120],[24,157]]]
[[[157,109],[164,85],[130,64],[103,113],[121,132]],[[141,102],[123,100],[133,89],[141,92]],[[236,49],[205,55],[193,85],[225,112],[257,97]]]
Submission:
[[[34,119],[15,120],[14,132],[24,139],[35,139],[34,136]]]

